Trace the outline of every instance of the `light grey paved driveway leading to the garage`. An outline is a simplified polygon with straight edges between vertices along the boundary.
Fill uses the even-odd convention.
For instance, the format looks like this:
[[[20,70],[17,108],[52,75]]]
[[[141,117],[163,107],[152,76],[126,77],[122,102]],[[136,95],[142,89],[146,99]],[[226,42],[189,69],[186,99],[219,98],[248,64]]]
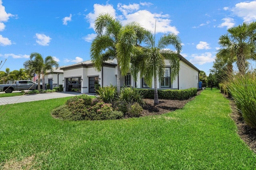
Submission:
[[[54,99],[54,98],[65,98],[65,97],[76,96],[80,94],[81,93],[78,93],[78,92],[52,92],[52,93],[42,93],[42,94],[27,94],[22,96],[13,96],[13,97],[4,97],[4,98],[1,98],[1,94],[0,94],[0,105],[32,102],[32,101],[47,100],[47,99]],[[88,95],[94,96],[93,93],[89,93]]]

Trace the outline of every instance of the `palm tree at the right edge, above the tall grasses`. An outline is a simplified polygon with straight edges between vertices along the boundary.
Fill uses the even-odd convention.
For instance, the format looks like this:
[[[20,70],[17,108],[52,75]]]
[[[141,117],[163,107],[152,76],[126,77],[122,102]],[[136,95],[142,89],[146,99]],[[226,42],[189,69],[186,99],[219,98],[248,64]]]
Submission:
[[[246,60],[256,60],[256,22],[247,23],[228,29],[228,34],[219,38],[222,49],[218,54],[224,59],[233,58],[236,61],[239,73],[245,75]]]

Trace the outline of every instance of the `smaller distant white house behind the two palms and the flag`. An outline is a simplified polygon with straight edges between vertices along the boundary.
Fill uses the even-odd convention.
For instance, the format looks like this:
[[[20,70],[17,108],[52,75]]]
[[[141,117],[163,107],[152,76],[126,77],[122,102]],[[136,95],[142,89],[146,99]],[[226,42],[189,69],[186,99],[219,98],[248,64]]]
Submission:
[[[45,84],[50,84],[50,90],[52,90],[54,87],[58,87],[60,84],[64,86],[63,70],[60,70],[59,68],[54,68],[53,71],[48,70],[44,75],[44,82]]]

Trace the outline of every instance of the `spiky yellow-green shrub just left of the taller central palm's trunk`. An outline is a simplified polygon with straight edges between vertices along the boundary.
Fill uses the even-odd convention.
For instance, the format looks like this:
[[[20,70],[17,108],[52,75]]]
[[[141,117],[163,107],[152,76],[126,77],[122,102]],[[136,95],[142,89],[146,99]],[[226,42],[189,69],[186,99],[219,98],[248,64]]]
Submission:
[[[116,100],[116,86],[99,87],[96,91],[98,98],[105,103],[113,104],[114,100]]]

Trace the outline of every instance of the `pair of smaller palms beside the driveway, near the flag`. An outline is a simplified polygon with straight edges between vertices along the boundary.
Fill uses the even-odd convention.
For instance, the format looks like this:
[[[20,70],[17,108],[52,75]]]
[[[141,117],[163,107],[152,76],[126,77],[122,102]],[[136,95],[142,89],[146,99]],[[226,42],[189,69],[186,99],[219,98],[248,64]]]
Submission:
[[[44,74],[46,70],[53,70],[53,66],[56,66],[58,68],[59,64],[54,61],[52,56],[47,56],[45,59],[43,59],[42,55],[39,53],[31,53],[30,54],[30,60],[25,61],[23,64],[24,68],[28,70],[28,72],[31,74],[36,73],[38,75],[38,90],[40,90],[40,78],[42,74],[42,85],[43,90],[45,87],[44,84]]]

